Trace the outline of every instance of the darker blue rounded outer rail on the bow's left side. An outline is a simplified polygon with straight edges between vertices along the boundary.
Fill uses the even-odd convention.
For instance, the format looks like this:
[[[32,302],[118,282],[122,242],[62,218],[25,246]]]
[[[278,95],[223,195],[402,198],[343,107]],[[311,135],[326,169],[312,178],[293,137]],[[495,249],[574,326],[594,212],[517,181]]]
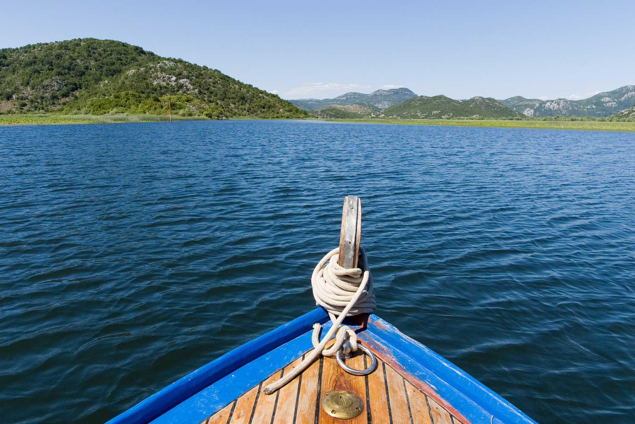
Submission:
[[[200,392],[215,381],[254,359],[271,352],[312,329],[316,322],[324,323],[328,314],[322,308],[316,308],[301,317],[295,318],[262,336],[238,346],[222,357],[211,361],[196,371],[187,374],[171,385],[159,390],[149,398],[142,400],[127,411],[117,415],[106,424],[147,424],[157,416],[177,406],[185,399]]]

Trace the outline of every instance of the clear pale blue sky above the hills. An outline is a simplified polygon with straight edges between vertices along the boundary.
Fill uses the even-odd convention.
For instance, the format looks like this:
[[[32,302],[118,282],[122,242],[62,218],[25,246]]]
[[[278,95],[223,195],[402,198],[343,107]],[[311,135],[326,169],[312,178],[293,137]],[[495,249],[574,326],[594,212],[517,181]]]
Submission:
[[[284,99],[405,86],[580,99],[635,85],[635,1],[0,1],[1,47],[94,37]]]

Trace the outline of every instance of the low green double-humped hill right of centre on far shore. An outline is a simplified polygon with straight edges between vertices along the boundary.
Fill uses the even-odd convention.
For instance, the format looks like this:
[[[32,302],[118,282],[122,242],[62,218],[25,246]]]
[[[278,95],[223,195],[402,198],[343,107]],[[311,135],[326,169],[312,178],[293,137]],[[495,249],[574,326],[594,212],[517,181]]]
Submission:
[[[454,100],[444,95],[419,96],[384,109],[382,118],[451,119],[451,118],[518,118],[522,116],[489,97]]]

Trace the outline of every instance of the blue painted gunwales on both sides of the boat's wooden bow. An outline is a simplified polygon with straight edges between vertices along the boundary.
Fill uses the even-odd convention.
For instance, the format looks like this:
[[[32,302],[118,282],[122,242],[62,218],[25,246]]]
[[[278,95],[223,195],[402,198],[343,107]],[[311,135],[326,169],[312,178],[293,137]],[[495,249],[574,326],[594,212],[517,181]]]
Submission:
[[[321,308],[311,311],[188,374],[133,407],[134,414],[130,413],[131,409],[107,424],[145,424],[152,420],[152,424],[199,423],[309,350],[312,324],[327,319]],[[325,327],[329,325],[327,322]],[[284,336],[283,332],[288,334]],[[294,337],[290,338],[290,334]],[[441,402],[446,401],[446,406],[467,418],[466,421],[535,424],[497,393],[381,318],[371,315],[368,326],[358,334],[366,346],[382,354],[391,366],[410,375],[411,382],[418,381],[422,390]],[[246,352],[248,348],[260,352],[250,355]],[[207,385],[202,386],[204,383]],[[180,400],[175,402],[176,399]],[[168,400],[170,407],[164,403],[157,412],[153,408],[161,400]]]

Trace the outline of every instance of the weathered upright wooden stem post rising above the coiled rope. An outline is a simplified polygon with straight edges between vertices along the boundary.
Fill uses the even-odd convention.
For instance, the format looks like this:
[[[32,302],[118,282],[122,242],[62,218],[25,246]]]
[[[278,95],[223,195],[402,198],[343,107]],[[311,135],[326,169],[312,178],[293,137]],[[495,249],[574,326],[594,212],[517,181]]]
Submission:
[[[342,209],[340,231],[340,256],[337,263],[343,268],[357,268],[359,242],[361,240],[361,200],[358,196],[346,196]]]

